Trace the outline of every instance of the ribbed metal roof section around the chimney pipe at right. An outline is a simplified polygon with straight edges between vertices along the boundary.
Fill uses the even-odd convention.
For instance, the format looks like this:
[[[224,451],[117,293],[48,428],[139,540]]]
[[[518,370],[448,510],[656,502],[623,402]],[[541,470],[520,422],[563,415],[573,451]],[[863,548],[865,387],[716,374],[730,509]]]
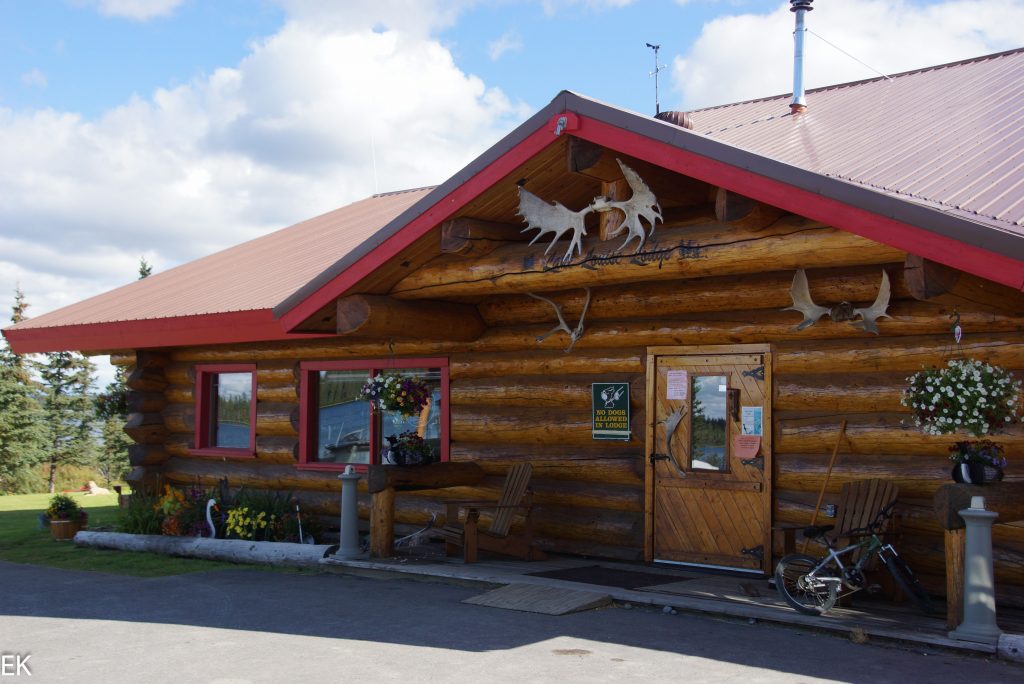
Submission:
[[[690,113],[780,162],[1024,232],[1024,49]]]

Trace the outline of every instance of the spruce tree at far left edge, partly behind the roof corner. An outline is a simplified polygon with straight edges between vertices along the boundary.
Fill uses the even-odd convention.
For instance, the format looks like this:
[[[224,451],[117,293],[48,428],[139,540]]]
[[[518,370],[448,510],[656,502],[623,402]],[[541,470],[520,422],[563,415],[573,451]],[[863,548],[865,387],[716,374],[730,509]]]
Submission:
[[[24,320],[28,306],[15,288],[11,322]],[[30,491],[38,479],[34,468],[43,460],[46,439],[39,394],[25,359],[0,338],[0,493]]]

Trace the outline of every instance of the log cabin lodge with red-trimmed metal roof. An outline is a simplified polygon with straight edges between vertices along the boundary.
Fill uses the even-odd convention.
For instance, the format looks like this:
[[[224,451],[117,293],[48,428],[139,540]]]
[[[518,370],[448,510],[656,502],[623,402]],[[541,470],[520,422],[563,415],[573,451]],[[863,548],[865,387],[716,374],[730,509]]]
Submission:
[[[436,187],[3,332],[129,370],[136,487],[226,477],[337,515],[339,472],[412,427],[485,477],[399,493],[397,523],[493,497],[526,461],[539,547],[598,558],[770,572],[773,525],[810,520],[841,441],[827,496],[895,481],[900,551],[941,594],[932,495],[957,437],[900,399],[954,356],[1024,372],[1024,49],[787,98],[651,118],[561,92]],[[786,310],[801,270],[831,317]],[[877,334],[836,313],[885,299],[884,279]],[[379,371],[430,384],[422,416],[358,399]],[[628,387],[614,438],[595,383]],[[992,438],[1024,479],[1022,426]],[[1019,601],[1024,527],[993,535],[1000,601]]]

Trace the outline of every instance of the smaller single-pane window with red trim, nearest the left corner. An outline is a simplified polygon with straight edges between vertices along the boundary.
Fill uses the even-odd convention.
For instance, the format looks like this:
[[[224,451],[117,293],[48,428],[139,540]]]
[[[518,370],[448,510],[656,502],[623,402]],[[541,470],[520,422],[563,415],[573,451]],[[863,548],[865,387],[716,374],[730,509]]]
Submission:
[[[256,366],[196,367],[194,453],[228,457],[256,454]]]

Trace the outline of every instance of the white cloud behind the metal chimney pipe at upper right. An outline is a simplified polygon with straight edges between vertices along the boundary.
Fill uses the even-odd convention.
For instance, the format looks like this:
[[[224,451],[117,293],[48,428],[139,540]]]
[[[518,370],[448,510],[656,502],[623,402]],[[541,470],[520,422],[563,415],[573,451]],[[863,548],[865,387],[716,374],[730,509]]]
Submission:
[[[1021,0],[955,0],[922,6],[903,0],[821,2],[807,28],[887,74],[1020,46]],[[794,18],[788,2],[766,14],[725,16],[673,62],[682,109],[740,101],[793,90]],[[808,35],[808,88],[877,76]]]

